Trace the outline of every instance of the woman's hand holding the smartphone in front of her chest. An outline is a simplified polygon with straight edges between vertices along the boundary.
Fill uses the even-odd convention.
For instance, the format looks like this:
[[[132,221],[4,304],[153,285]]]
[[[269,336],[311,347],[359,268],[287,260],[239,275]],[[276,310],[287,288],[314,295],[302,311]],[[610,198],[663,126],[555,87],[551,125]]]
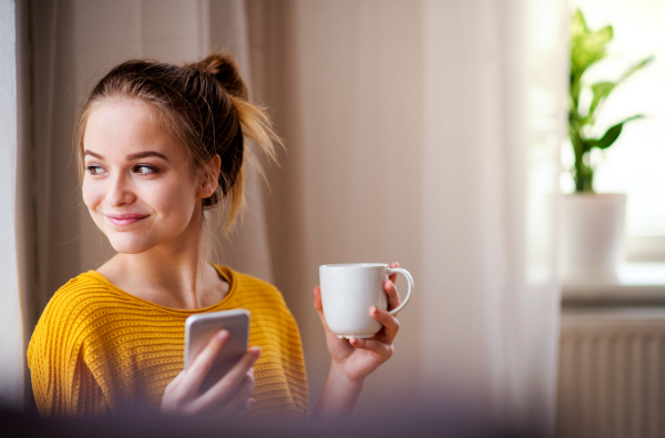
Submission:
[[[183,369],[166,386],[162,398],[162,412],[181,415],[237,415],[248,414],[254,405],[249,398],[254,390],[252,366],[260,355],[260,348],[252,347],[241,360],[208,390],[198,388],[209,371],[215,357],[228,340],[228,332],[215,334],[187,369]]]

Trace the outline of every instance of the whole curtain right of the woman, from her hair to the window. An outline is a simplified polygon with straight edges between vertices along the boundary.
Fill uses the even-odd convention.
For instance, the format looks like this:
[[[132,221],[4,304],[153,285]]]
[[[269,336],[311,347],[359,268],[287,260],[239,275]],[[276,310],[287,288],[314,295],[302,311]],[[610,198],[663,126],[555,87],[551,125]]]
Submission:
[[[274,275],[314,398],[316,266],[399,261],[416,292],[359,410],[462,405],[551,434],[564,2],[249,4],[255,91],[287,141],[266,197]]]

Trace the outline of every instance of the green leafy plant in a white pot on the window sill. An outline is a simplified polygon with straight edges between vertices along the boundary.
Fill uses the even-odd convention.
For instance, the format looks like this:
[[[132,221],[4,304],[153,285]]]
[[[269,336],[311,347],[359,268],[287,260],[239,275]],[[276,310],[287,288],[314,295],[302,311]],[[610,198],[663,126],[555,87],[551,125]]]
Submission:
[[[621,135],[623,126],[643,118],[632,115],[610,126],[602,135],[594,130],[598,111],[622,82],[653,60],[646,58],[631,65],[616,82],[584,82],[590,67],[607,55],[606,45],[612,40],[612,27],[591,31],[577,10],[571,23],[571,75],[569,137],[575,163],[570,172],[575,182],[575,193],[563,196],[562,271],[566,281],[615,278],[623,258],[625,227],[625,194],[597,194],[593,189],[594,163],[591,151],[606,150]],[[583,93],[592,96],[583,102]]]

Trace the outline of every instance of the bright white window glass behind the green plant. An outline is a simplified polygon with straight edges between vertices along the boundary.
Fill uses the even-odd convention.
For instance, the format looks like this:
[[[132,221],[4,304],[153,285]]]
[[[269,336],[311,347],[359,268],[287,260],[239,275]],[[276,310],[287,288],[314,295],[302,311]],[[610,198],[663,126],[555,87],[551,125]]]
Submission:
[[[665,261],[665,1],[571,0],[570,6],[582,10],[591,29],[611,24],[614,30],[608,57],[587,71],[585,81],[614,81],[633,62],[656,57],[612,93],[598,114],[597,129],[602,133],[633,114],[647,118],[626,123],[616,143],[604,152],[594,150],[592,161],[601,164],[594,182],[597,192],[628,196],[628,261]],[[572,151],[564,147],[562,154],[567,167]],[[570,175],[562,176],[561,189],[573,191]]]

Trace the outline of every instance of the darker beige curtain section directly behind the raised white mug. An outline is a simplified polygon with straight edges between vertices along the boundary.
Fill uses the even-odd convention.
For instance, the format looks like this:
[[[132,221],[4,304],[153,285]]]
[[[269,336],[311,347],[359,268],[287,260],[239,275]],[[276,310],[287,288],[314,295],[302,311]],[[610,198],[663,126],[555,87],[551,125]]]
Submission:
[[[389,366],[361,411],[420,405],[422,42],[420,2],[250,2],[255,91],[286,139],[266,196],[275,282],[300,325],[311,398],[329,366],[311,289],[318,265],[399,261],[416,278]],[[437,347],[438,348],[438,347]]]

